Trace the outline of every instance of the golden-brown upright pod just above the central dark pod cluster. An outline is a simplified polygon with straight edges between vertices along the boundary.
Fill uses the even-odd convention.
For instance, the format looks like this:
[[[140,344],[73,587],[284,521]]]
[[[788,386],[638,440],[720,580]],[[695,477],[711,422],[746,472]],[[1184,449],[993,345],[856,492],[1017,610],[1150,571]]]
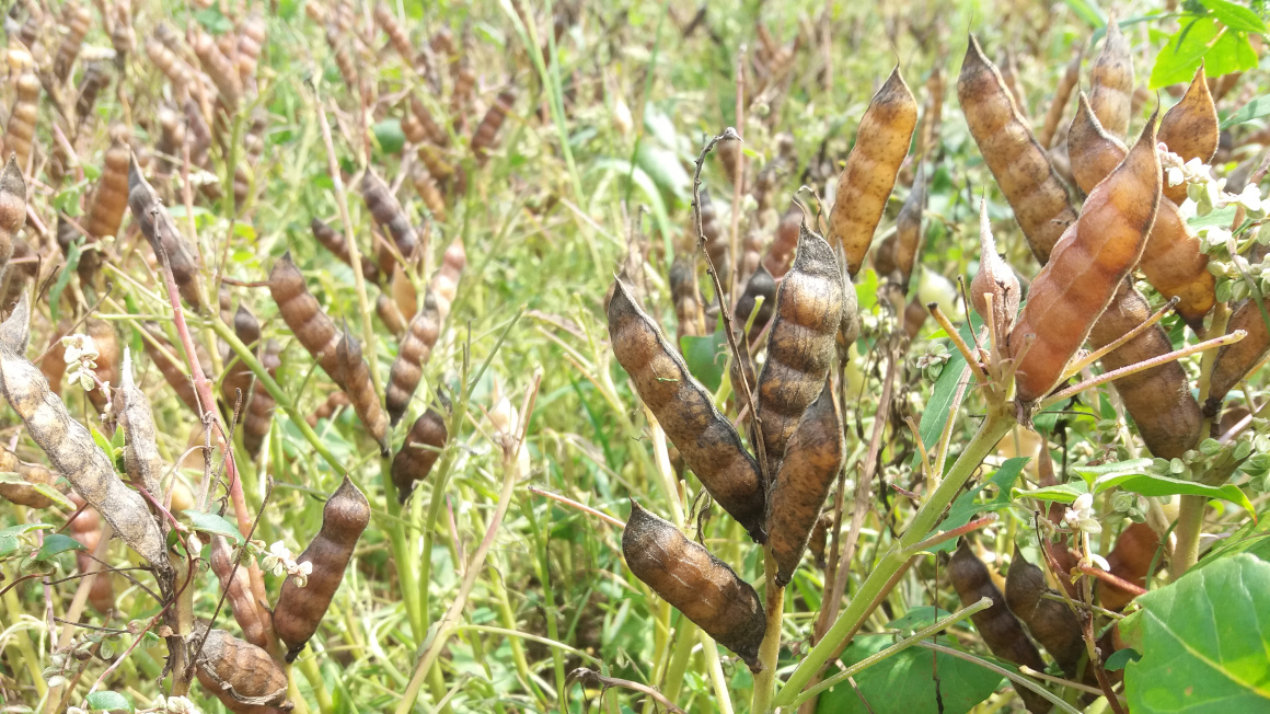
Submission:
[[[860,119],[856,146],[838,177],[838,193],[829,212],[831,245],[842,245],[852,277],[869,253],[916,127],[917,100],[895,67]]]

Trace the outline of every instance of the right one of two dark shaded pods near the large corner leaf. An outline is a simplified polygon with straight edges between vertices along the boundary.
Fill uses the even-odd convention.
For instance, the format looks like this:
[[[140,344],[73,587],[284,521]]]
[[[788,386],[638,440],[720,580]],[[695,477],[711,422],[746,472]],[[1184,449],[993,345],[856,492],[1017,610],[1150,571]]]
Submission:
[[[1006,574],[1006,605],[1072,678],[1085,656],[1085,637],[1081,623],[1067,605],[1041,597],[1048,589],[1045,573],[1015,549]]]

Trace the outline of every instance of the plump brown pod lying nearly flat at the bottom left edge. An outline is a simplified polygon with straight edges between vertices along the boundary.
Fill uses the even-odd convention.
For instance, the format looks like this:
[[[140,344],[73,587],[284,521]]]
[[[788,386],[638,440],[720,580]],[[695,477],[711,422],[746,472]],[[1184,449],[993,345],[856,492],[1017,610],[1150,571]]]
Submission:
[[[235,714],[264,714],[267,706],[291,711],[287,672],[269,653],[225,630],[201,628],[202,654],[196,662],[198,681]],[[197,649],[197,648],[194,648]]]

